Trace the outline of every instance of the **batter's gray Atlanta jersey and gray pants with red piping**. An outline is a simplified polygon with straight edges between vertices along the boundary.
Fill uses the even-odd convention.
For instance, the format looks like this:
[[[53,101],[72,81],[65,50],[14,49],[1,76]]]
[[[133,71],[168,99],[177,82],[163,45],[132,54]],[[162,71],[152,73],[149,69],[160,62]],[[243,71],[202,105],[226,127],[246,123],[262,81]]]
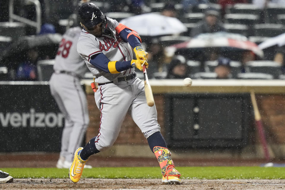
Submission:
[[[114,31],[119,25],[116,20],[110,18],[107,18],[107,22],[110,29]],[[77,51],[96,77],[97,83],[113,81],[99,85],[99,89],[94,94],[96,105],[101,113],[99,134],[95,140],[99,151],[105,151],[113,145],[127,113],[132,116],[146,138],[160,131],[156,107],[147,105],[143,82],[137,77],[121,82],[117,80],[123,75],[134,74],[134,68],[111,74],[97,69],[89,62],[91,56],[97,53],[104,53],[110,61],[132,60],[132,47],[124,42],[118,33],[113,37],[107,35],[95,37],[83,30],[78,39]]]

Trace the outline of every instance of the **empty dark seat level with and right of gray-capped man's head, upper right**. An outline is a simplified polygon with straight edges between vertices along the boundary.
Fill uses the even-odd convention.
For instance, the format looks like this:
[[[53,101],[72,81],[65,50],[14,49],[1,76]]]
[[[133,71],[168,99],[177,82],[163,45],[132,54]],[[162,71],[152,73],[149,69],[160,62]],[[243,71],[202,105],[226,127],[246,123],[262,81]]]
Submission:
[[[253,14],[225,14],[225,23],[245,24],[252,26],[259,23],[259,15]]]

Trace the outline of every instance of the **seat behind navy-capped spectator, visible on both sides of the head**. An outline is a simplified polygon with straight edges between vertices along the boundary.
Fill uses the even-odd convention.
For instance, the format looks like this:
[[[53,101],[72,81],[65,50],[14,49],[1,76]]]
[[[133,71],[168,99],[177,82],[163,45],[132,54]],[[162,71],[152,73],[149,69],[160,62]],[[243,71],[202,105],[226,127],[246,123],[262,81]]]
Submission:
[[[204,63],[204,69],[206,72],[214,72],[215,71],[215,67],[218,65],[218,61],[205,61]],[[231,74],[233,78],[236,78],[238,73],[241,72],[241,68],[242,68],[242,64],[239,61],[231,61],[229,63],[229,65],[231,66]]]

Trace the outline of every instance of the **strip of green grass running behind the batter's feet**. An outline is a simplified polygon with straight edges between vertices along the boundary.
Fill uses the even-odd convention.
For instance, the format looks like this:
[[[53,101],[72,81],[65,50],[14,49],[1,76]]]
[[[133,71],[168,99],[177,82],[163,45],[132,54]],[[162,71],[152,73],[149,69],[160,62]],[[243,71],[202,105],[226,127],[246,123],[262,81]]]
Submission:
[[[177,167],[181,179],[285,179],[284,167]],[[1,168],[14,178],[69,178],[68,169]],[[84,169],[82,178],[161,178],[159,167]]]

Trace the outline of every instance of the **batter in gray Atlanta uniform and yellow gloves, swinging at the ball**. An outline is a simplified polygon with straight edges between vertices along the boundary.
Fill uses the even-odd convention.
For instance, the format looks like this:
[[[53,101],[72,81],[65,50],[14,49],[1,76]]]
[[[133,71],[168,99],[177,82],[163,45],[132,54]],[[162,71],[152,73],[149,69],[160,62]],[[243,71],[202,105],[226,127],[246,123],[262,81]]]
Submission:
[[[77,148],[69,169],[70,179],[78,182],[89,156],[113,145],[129,113],[159,161],[162,181],[180,184],[181,174],[175,170],[170,151],[160,133],[156,107],[147,105],[144,84],[134,72],[134,67],[142,71],[143,65],[148,66],[148,53],[141,47],[139,34],[107,18],[92,3],[83,4],[78,16],[84,29],[78,39],[77,51],[96,77],[98,88],[94,97],[101,120],[98,136],[93,137],[84,148]],[[133,59],[132,49],[137,59]]]

